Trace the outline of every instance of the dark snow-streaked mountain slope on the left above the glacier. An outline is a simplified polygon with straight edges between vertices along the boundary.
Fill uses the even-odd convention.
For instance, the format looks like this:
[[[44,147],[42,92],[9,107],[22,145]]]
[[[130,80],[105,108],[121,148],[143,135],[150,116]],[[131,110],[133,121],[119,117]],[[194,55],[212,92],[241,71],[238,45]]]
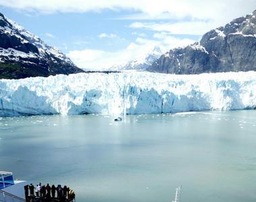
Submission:
[[[0,13],[0,78],[82,72],[60,50],[49,46]]]

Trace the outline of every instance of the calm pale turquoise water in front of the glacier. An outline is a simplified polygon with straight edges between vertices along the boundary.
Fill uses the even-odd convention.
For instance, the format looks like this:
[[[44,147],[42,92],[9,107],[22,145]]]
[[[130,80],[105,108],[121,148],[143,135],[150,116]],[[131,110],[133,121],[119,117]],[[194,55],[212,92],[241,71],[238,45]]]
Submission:
[[[0,118],[0,170],[77,201],[256,201],[256,111]]]

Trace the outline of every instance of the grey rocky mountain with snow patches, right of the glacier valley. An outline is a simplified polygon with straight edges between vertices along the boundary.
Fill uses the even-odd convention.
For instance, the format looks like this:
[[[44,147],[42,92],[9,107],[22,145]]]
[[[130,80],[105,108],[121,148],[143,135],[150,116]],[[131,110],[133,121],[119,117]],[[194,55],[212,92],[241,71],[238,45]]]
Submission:
[[[149,71],[197,74],[256,71],[256,10],[203,35],[200,42],[161,55]]]

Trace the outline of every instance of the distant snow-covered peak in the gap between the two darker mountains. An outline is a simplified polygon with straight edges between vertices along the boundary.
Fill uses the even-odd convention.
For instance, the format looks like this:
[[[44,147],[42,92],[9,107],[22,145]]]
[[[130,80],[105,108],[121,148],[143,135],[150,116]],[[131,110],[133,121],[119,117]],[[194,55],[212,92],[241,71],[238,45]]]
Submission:
[[[148,50],[146,53],[141,53],[137,59],[128,61],[122,65],[115,65],[109,70],[146,70],[149,65],[151,65],[155,60],[157,60],[163,52],[159,47],[154,47],[151,50]]]

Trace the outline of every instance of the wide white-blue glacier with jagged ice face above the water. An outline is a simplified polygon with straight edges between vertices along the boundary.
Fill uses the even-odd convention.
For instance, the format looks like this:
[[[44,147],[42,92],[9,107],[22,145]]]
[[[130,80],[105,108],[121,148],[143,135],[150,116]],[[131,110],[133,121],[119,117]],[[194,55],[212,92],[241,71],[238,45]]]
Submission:
[[[141,71],[0,79],[0,116],[143,114],[256,107],[256,72]]]

